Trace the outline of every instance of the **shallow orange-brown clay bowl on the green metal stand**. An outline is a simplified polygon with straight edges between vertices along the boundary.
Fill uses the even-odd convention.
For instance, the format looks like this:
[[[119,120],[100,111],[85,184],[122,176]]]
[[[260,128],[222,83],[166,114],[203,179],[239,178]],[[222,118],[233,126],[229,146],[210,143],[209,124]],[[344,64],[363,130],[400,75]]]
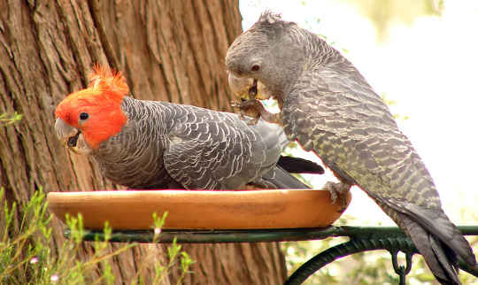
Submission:
[[[166,211],[164,228],[177,229],[327,227],[341,215],[328,191],[312,189],[50,192],[47,199],[60,220],[80,212],[92,229],[106,220],[114,229],[148,229],[152,213]]]

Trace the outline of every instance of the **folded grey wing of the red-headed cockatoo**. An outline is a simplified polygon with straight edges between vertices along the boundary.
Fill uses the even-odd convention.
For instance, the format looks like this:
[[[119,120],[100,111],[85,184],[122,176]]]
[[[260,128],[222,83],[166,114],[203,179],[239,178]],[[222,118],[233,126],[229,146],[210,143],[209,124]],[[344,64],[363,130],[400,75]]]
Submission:
[[[278,127],[265,122],[248,126],[231,113],[190,111],[188,119],[174,124],[164,154],[167,173],[185,188],[241,189],[246,183],[308,188],[276,166],[287,142]]]

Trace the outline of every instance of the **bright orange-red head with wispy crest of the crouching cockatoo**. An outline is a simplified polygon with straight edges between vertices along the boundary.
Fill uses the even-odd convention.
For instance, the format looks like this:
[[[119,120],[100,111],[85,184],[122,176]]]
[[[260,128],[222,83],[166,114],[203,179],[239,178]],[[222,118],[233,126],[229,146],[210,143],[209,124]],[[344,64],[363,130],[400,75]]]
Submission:
[[[121,109],[121,102],[129,88],[120,72],[99,65],[95,65],[89,80],[87,89],[73,92],[58,104],[56,126],[58,119],[63,120],[81,132],[91,149],[97,149],[100,143],[118,134],[126,124],[127,116]],[[72,134],[71,131],[62,133],[58,127],[57,133],[58,136]]]

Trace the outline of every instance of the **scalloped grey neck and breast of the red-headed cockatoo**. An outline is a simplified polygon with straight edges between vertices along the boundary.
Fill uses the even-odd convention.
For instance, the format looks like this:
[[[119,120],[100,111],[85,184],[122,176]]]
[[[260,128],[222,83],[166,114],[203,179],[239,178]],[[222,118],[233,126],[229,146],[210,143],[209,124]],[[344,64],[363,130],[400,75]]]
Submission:
[[[169,122],[159,103],[125,97],[121,108],[127,115],[126,125],[120,133],[101,143],[92,155],[104,176],[118,184],[132,186],[137,177],[148,181],[162,171]],[[160,161],[151,159],[153,157]]]

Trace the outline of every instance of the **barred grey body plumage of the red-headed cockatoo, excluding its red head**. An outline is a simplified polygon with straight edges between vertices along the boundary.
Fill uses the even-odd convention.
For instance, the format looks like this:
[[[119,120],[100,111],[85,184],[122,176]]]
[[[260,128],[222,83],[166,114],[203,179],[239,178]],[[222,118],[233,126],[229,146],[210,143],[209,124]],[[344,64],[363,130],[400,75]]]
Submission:
[[[262,120],[248,126],[234,113],[128,96],[120,107],[127,123],[89,152],[115,183],[133,189],[308,188],[276,166],[289,143],[281,127]],[[76,135],[61,118],[56,128],[58,136]]]

